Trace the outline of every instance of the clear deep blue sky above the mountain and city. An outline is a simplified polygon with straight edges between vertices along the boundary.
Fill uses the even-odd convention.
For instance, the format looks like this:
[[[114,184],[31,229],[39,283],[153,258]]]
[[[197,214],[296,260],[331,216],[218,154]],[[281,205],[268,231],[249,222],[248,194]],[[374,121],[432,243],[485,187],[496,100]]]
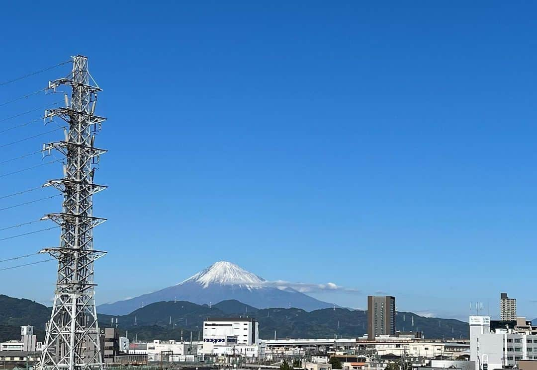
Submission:
[[[19,2],[3,4],[0,81],[84,54],[108,117],[95,197],[109,220],[96,298],[180,282],[228,260],[269,280],[328,282],[315,297],[465,318],[470,301],[519,314],[533,295],[535,6],[529,2]],[[3,117],[65,65],[0,85]],[[20,117],[22,118],[22,117]],[[0,136],[0,157],[39,150],[42,123]],[[48,160],[48,159],[46,159]],[[0,175],[40,164],[0,164]],[[57,164],[0,177],[0,194],[60,177]],[[0,199],[0,208],[54,195]],[[0,211],[2,225],[59,210],[60,198]],[[0,226],[2,226],[0,225]],[[0,239],[48,227],[0,231]],[[2,227],[0,227],[2,228]],[[5,236],[3,236],[5,235]],[[9,258],[58,231],[0,241]],[[38,261],[42,257],[21,260]],[[19,262],[2,263],[4,267]],[[0,266],[2,267],[2,266]],[[0,271],[2,293],[48,302],[55,266]],[[359,292],[355,292],[355,291]]]

